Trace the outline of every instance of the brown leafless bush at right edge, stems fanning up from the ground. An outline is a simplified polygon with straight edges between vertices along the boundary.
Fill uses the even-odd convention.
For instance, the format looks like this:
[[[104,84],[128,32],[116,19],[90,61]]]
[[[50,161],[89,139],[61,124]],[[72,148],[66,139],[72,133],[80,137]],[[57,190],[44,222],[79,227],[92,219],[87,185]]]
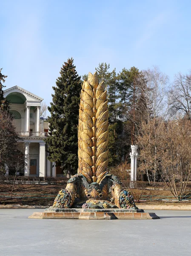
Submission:
[[[161,132],[160,174],[171,193],[182,197],[191,179],[191,125],[187,119],[168,122]]]

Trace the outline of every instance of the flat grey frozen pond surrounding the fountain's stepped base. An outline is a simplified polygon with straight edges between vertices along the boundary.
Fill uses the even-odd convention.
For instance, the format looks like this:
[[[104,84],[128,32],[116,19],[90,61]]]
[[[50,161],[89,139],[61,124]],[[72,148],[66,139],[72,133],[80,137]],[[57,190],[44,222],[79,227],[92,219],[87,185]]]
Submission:
[[[191,211],[155,211],[159,220],[28,219],[34,211],[43,209],[0,209],[0,256],[191,255]]]

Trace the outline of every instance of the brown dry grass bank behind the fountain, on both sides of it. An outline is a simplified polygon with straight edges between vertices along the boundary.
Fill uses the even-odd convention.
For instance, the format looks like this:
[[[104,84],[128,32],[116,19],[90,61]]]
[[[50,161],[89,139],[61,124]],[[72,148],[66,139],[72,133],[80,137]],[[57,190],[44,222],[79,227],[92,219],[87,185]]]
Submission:
[[[41,185],[41,184],[15,184],[13,198],[0,198],[0,204],[28,204],[28,205],[48,205],[53,204],[57,193],[64,188],[64,185]],[[0,195],[11,196],[11,184],[0,185]],[[140,195],[148,196],[147,201],[137,201],[136,204],[167,204],[158,200],[162,196],[172,196],[168,190],[154,189],[129,189],[135,200],[140,199]],[[46,195],[45,195],[46,194]],[[149,200],[149,196],[156,196],[154,201]],[[21,197],[21,198],[16,198]],[[49,197],[49,198],[48,198]],[[141,198],[141,200],[144,197]],[[191,200],[190,200],[191,203]],[[168,205],[189,204],[188,201],[168,202]]]

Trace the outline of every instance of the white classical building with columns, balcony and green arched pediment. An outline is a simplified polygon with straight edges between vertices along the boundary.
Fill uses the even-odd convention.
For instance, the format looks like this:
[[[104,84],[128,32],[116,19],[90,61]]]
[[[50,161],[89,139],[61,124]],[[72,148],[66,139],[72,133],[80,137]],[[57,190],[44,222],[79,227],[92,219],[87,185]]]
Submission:
[[[11,103],[11,113],[14,116],[13,122],[16,131],[23,139],[18,143],[25,153],[24,175],[60,176],[60,168],[47,160],[44,138],[48,136],[48,121],[40,118],[40,106],[43,99],[19,86],[6,89],[3,93],[4,98]]]

